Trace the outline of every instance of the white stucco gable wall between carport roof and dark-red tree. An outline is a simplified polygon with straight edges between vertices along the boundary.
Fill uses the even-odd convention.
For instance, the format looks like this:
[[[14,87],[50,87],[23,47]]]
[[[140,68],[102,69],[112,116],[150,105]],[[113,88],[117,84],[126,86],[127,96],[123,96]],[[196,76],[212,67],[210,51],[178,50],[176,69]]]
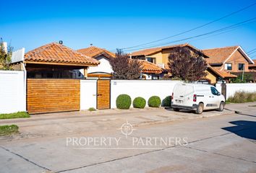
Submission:
[[[100,61],[101,63],[98,66],[90,66],[88,68],[88,74],[95,73],[95,72],[104,72],[104,73],[111,74],[113,72],[111,65],[108,61],[108,58],[106,58],[105,56],[99,56],[97,60]]]

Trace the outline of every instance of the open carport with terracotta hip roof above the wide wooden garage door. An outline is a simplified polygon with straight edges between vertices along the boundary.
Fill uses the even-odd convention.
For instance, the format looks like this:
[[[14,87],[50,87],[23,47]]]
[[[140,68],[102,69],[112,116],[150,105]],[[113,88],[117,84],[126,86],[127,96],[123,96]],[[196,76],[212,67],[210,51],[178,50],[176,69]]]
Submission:
[[[97,66],[99,61],[67,48],[59,43],[50,43],[25,53],[14,66],[25,67],[27,78],[77,79],[75,69],[84,69],[87,77],[89,66]]]

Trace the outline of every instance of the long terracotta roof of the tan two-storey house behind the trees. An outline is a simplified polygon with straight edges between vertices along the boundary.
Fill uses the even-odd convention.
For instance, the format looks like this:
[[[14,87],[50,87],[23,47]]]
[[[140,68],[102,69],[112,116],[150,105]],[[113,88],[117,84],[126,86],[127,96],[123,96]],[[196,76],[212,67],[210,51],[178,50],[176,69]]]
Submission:
[[[186,46],[201,52],[201,50],[195,48],[192,45],[189,45],[189,43],[185,43],[185,44],[181,44],[181,45],[168,45],[168,46],[163,46],[163,47],[158,47],[158,48],[149,48],[149,49],[139,50],[139,51],[133,52],[132,56],[150,56],[154,53],[161,52],[163,49],[186,47]]]

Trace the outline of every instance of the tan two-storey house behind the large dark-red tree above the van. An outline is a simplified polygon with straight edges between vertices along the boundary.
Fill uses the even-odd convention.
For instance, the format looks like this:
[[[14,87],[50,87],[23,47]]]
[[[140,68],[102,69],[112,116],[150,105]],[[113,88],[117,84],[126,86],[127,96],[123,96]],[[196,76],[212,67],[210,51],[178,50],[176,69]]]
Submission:
[[[193,53],[198,53],[202,55],[205,59],[208,58],[204,53],[202,53],[201,50],[195,48],[192,45],[189,45],[188,43],[181,44],[181,45],[168,45],[168,46],[163,46],[163,47],[158,47],[158,48],[149,48],[145,50],[139,50],[137,52],[133,52],[131,54],[132,58],[138,58],[144,61],[148,61],[150,63],[154,63],[155,65],[168,69],[168,56],[170,56],[171,51],[174,48],[179,48],[179,47],[187,47],[189,50],[191,50]],[[223,74],[221,74],[218,70],[213,69],[213,68],[208,68],[207,76],[202,79],[204,82],[208,82],[210,84],[216,84],[216,81],[218,79],[223,78]]]

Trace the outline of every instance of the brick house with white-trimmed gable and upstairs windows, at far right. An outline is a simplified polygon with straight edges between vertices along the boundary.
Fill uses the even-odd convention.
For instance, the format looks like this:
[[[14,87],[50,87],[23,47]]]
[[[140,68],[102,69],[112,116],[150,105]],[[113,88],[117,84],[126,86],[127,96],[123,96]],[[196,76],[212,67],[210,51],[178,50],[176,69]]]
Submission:
[[[239,45],[206,49],[202,52],[209,57],[205,58],[207,63],[222,73],[226,81],[236,78],[239,74],[249,72],[249,66],[254,64]]]

